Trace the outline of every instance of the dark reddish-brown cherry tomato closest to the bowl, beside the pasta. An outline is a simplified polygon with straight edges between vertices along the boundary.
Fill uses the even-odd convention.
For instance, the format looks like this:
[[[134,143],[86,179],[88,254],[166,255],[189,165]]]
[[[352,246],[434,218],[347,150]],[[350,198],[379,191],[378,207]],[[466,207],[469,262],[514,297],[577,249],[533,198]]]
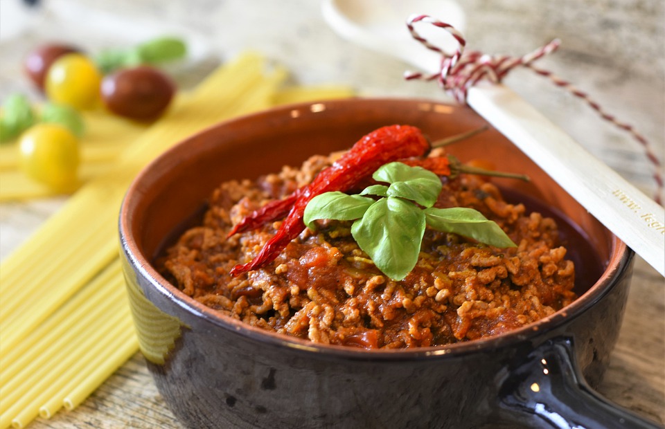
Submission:
[[[102,100],[116,115],[135,120],[154,120],[170,104],[175,84],[150,66],[123,69],[104,77]]]

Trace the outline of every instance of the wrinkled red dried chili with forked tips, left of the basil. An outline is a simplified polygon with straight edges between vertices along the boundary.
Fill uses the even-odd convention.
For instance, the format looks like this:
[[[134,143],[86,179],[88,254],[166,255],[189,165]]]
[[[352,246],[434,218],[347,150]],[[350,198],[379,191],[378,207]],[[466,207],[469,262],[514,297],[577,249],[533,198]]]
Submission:
[[[404,158],[423,156],[429,149],[429,142],[422,131],[409,125],[391,125],[367,134],[335,163],[322,170],[312,183],[286,198],[289,201],[294,200],[293,206],[274,237],[267,241],[251,262],[234,266],[231,275],[239,275],[274,261],[287,244],[305,229],[303,213],[312,198],[323,192],[349,190],[382,165]],[[243,219],[241,223],[244,225],[233,228],[229,235],[278,219],[289,206],[289,203],[282,201],[285,200],[273,203],[272,207],[266,210],[256,210],[249,215],[251,219]]]

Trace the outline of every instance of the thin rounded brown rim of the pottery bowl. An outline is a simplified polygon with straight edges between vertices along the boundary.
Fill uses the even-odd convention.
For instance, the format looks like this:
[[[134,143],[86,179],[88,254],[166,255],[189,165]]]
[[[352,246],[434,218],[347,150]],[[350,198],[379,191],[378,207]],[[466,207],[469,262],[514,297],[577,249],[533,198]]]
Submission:
[[[127,221],[127,211],[129,210],[129,206],[131,205],[130,203],[132,200],[140,198],[142,194],[142,192],[137,192],[136,189],[139,187],[143,177],[147,176],[154,169],[154,165],[159,163],[159,160],[170,156],[170,154],[174,152],[177,152],[179,147],[187,145],[190,140],[193,140],[202,134],[215,131],[220,127],[225,127],[230,123],[235,124],[242,121],[253,121],[260,118],[272,117],[287,113],[293,109],[307,107],[312,104],[326,103],[329,106],[333,106],[339,109],[340,107],[344,108],[344,106],[347,104],[362,104],[364,102],[381,102],[382,104],[412,104],[418,102],[430,102],[434,104],[442,104],[445,106],[463,107],[459,104],[448,104],[439,100],[427,100],[424,98],[351,98],[343,100],[324,100],[317,102],[301,102],[297,104],[289,104],[259,111],[256,113],[249,113],[247,115],[238,116],[236,118],[224,120],[222,122],[216,123],[215,125],[211,125],[211,127],[207,127],[206,129],[198,131],[192,136],[181,140],[179,143],[176,143],[167,149],[166,152],[163,152],[163,154],[159,155],[148,165],[143,167],[141,172],[139,172],[139,174],[134,178],[132,184],[125,193],[118,218],[118,230],[121,238],[122,248],[121,256],[127,259],[127,262],[129,262],[132,270],[134,273],[136,273],[136,275],[140,275],[143,277],[143,279],[148,280],[148,284],[150,284],[150,286],[152,286],[152,288],[157,291],[159,295],[161,295],[161,298],[171,302],[172,306],[175,305],[175,307],[179,308],[180,311],[189,313],[190,316],[195,318],[203,318],[215,326],[248,338],[249,340],[258,341],[259,343],[276,345],[278,347],[287,347],[288,349],[292,349],[294,352],[303,352],[307,354],[325,354],[329,356],[344,357],[351,360],[404,360],[443,356],[449,356],[452,358],[454,356],[465,356],[466,354],[475,353],[479,350],[507,347],[524,342],[525,340],[533,340],[536,337],[547,333],[547,331],[553,331],[557,327],[568,324],[576,317],[580,316],[581,313],[590,307],[593,307],[596,302],[607,295],[617,284],[615,280],[621,277],[621,273],[630,267],[630,260],[634,256],[634,253],[630,248],[628,248],[628,246],[626,246],[625,243],[623,243],[623,241],[621,241],[621,239],[612,234],[612,232],[608,231],[611,237],[610,258],[608,259],[601,277],[574,302],[569,304],[567,307],[556,311],[550,316],[546,316],[536,322],[524,325],[524,327],[513,329],[504,334],[479,338],[477,340],[453,343],[445,346],[368,350],[362,349],[360,347],[313,343],[310,340],[290,337],[285,334],[278,334],[274,331],[267,331],[265,329],[254,327],[252,325],[248,325],[245,322],[241,322],[240,320],[231,318],[230,316],[227,316],[220,311],[211,309],[210,307],[197,302],[190,296],[177,289],[176,286],[170,284],[170,282],[168,282],[162,275],[160,275],[154,266],[152,266],[152,262],[150,262],[150,260],[145,257],[145,255],[143,255],[139,249],[138,244],[136,243],[136,240],[130,234],[132,228],[130,228],[130,225]],[[589,214],[589,216],[592,215]],[[603,228],[605,227],[603,226]],[[145,282],[137,283],[141,285],[141,288],[146,287]],[[145,291],[142,290],[141,293],[145,295]],[[150,301],[157,305],[154,300]],[[165,309],[159,309],[160,311],[166,312]],[[181,320],[179,316],[177,317],[179,320]]]

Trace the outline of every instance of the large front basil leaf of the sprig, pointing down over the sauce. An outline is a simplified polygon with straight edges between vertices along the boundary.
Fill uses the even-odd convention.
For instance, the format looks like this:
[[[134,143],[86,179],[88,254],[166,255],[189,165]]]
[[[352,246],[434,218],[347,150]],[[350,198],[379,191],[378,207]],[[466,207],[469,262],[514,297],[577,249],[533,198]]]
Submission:
[[[393,280],[404,279],[416,266],[424,233],[423,210],[394,197],[373,203],[351,226],[358,246]]]

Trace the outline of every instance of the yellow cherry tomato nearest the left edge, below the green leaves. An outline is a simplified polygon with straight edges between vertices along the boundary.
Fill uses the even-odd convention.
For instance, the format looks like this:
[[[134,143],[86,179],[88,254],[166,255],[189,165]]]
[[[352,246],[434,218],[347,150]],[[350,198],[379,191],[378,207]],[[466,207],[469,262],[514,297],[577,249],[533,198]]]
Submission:
[[[54,190],[67,192],[76,186],[78,139],[62,125],[42,123],[24,132],[19,159],[25,174]]]

